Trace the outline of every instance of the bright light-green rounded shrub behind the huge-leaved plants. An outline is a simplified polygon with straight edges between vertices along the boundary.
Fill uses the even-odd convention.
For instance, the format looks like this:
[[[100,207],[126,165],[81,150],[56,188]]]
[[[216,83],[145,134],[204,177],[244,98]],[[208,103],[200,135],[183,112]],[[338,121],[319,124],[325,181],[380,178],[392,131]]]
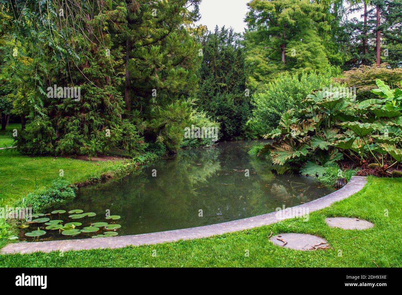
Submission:
[[[264,126],[260,134],[265,134],[276,128],[281,116],[289,109],[295,110],[295,115],[306,105],[303,99],[315,89],[329,87],[331,84],[330,74],[320,74],[315,71],[303,73],[299,76],[297,73],[281,75],[265,85],[264,92],[252,96],[252,105],[254,106],[252,125]],[[334,83],[334,86],[339,86]]]

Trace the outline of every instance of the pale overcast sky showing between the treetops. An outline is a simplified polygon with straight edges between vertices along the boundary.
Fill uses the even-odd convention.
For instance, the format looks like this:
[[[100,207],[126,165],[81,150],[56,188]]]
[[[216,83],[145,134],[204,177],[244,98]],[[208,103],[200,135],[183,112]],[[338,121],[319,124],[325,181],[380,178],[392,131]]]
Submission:
[[[250,0],[202,0],[199,8],[201,19],[197,22],[212,31],[216,25],[219,28],[232,26],[235,32],[242,33],[246,27],[243,22],[247,13],[247,3]],[[345,6],[348,7],[348,6]],[[348,18],[360,18],[361,12],[355,12]]]

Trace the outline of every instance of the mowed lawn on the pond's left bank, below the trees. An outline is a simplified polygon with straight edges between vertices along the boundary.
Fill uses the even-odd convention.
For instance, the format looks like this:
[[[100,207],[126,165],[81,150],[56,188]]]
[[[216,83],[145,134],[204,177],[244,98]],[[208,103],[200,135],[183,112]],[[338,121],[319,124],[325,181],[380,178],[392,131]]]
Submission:
[[[0,150],[0,205],[12,205],[35,189],[62,178],[70,183],[99,177],[111,171],[111,161],[82,161],[63,157],[30,157],[15,149]],[[60,169],[64,176],[60,177]]]

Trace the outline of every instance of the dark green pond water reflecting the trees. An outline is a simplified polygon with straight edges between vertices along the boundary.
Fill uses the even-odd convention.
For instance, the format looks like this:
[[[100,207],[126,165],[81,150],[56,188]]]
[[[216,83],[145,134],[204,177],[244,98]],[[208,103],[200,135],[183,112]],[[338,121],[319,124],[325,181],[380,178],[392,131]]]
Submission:
[[[95,212],[90,222],[108,222],[107,212],[119,215],[117,232],[130,235],[257,216],[333,191],[313,177],[283,167],[274,170],[266,160],[248,155],[257,142],[221,142],[210,149],[181,150],[122,179],[82,187],[73,201],[55,209]],[[47,232],[39,240],[89,237]]]

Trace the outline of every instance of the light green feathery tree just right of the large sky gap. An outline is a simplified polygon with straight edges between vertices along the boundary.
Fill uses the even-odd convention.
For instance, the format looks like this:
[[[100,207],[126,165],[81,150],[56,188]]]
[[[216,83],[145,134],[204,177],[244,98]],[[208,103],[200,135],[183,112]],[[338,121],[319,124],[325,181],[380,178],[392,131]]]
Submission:
[[[263,55],[252,82],[264,81],[284,70],[324,71],[328,58],[318,29],[328,30],[329,26],[322,4],[308,0],[252,0],[247,5],[250,12],[245,37],[249,47],[257,46],[255,53]],[[260,68],[263,74],[259,76]]]

